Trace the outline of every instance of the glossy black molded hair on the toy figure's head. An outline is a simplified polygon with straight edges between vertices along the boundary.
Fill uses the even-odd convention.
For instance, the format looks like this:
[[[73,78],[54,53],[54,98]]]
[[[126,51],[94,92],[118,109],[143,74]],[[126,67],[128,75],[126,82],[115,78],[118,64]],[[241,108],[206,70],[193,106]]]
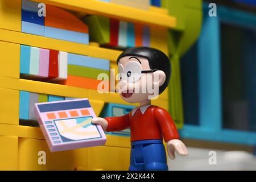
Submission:
[[[137,56],[146,58],[150,65],[150,69],[162,70],[164,73],[166,73],[166,81],[162,86],[159,87],[159,94],[164,92],[171,78],[171,62],[165,53],[159,51],[158,49],[150,47],[133,47],[126,49],[121,53],[121,55],[119,55],[117,59],[117,64],[122,57],[126,56]]]

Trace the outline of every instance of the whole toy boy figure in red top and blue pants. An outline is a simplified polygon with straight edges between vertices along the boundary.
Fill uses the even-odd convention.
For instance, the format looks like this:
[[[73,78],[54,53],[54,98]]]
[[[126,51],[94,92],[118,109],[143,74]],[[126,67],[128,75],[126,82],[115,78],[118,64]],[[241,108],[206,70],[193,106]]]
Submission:
[[[140,106],[121,117],[94,118],[92,122],[101,125],[105,131],[130,127],[129,170],[168,170],[163,138],[171,159],[175,159],[175,151],[180,155],[187,155],[188,151],[179,140],[168,111],[151,105],[150,97],[154,93],[148,88],[159,89],[159,94],[167,88],[171,77],[170,60],[158,49],[134,47],[124,51],[117,64],[120,75],[118,93],[126,102],[138,102]]]

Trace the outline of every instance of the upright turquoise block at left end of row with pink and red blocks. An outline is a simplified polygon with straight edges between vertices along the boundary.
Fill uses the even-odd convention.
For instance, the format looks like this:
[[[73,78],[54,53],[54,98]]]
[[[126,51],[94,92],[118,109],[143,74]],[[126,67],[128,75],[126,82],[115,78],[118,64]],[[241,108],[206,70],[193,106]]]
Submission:
[[[30,74],[30,46],[20,45],[20,73]]]

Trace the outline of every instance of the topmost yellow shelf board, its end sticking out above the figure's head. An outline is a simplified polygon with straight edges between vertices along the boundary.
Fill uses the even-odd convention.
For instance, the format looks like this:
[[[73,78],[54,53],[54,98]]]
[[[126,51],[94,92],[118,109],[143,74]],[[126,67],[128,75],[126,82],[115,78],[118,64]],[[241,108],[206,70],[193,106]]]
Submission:
[[[34,0],[48,5],[62,7],[64,9],[79,11],[86,14],[97,14],[117,18],[134,23],[142,23],[153,26],[162,26],[168,28],[176,27],[176,18],[166,14],[134,9],[114,3],[106,3],[96,0]],[[159,21],[160,20],[160,21]]]

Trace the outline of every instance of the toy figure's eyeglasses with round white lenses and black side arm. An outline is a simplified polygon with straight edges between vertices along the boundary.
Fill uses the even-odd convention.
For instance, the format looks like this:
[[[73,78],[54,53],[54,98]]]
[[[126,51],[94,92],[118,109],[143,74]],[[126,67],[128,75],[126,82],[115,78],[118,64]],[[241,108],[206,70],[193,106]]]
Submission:
[[[118,65],[118,75],[120,80],[126,79],[128,82],[137,82],[142,73],[153,73],[158,69],[142,70],[141,64],[137,61],[130,61],[126,64],[125,69],[121,64]]]

